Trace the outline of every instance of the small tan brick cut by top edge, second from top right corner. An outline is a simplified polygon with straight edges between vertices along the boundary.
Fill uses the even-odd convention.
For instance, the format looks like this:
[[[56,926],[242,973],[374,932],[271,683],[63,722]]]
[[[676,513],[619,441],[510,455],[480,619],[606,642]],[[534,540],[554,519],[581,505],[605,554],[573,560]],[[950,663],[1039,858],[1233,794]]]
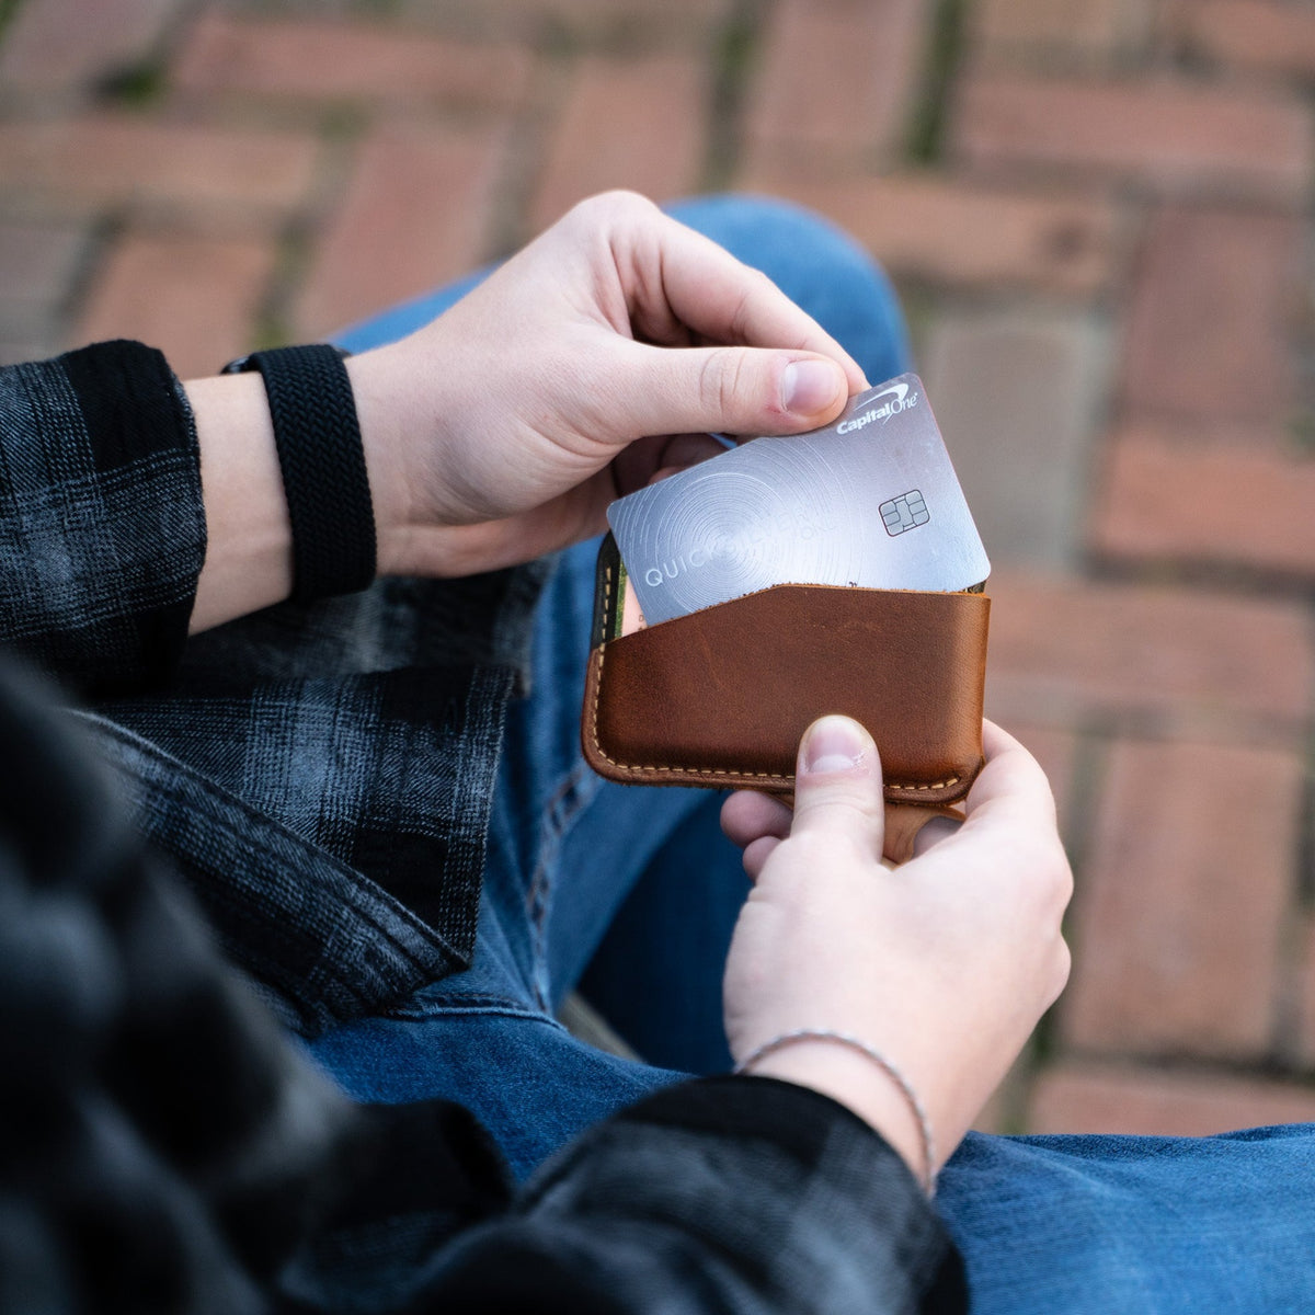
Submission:
[[[1141,7],[1127,0],[982,0],[970,11],[973,49],[1094,63],[1132,46]]]

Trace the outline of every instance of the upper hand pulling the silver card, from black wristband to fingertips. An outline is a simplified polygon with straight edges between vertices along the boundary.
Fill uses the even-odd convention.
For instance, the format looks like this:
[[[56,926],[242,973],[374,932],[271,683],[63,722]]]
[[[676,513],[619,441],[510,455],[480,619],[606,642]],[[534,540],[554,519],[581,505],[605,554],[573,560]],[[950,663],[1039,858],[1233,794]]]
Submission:
[[[721,451],[709,433],[802,433],[867,384],[764,275],[625,192],[348,370],[380,571],[448,576],[596,534],[613,498]]]

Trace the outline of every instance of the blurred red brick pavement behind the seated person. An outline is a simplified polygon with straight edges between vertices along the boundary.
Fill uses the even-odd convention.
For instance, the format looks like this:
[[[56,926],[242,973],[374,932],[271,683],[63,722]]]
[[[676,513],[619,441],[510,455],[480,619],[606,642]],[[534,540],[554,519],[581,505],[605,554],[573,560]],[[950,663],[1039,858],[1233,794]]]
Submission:
[[[9,0],[0,356],[184,372],[609,185],[768,189],[888,263],[1052,775],[1073,984],[989,1119],[1315,1118],[1315,8]],[[371,241],[375,235],[376,241]]]

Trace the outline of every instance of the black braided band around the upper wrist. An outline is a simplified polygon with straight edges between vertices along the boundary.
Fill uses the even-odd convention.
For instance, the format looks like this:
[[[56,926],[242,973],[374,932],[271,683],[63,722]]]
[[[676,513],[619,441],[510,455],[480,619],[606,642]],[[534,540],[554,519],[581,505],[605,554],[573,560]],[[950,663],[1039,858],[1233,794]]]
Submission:
[[[351,379],[338,347],[252,351],[225,375],[258,370],[292,522],[292,597],[354,593],[375,579],[375,512]]]

